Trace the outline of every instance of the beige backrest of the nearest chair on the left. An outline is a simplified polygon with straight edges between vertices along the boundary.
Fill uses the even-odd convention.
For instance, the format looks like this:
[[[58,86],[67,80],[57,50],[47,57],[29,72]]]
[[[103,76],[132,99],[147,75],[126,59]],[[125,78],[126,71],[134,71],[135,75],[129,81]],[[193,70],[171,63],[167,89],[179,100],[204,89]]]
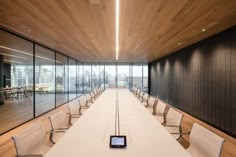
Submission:
[[[20,133],[12,137],[16,153],[18,156],[33,154],[33,150],[38,149],[45,144],[45,132],[41,125],[36,123],[29,128],[24,129]],[[46,152],[42,152],[42,155]]]

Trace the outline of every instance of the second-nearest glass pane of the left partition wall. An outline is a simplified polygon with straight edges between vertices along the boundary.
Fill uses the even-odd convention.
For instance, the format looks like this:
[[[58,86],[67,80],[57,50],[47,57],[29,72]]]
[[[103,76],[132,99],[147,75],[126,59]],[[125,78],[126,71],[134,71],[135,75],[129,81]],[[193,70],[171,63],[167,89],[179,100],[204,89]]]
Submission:
[[[35,115],[55,108],[55,52],[35,45]]]

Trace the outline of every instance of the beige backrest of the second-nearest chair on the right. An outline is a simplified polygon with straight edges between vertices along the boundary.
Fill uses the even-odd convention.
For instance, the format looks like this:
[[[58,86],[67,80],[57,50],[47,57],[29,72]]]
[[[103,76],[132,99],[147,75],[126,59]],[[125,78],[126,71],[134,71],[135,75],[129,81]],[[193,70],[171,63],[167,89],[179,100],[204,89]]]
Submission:
[[[183,114],[175,111],[172,108],[169,108],[169,111],[166,115],[166,125],[180,126],[183,118]]]

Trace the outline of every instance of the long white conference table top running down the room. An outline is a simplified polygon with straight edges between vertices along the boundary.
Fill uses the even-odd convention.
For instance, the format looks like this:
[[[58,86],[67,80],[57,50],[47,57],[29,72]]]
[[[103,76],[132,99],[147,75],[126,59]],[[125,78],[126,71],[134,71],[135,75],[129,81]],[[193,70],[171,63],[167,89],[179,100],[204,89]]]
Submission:
[[[44,157],[190,157],[129,90],[119,89],[118,99],[127,148],[109,147],[116,90],[107,89]]]

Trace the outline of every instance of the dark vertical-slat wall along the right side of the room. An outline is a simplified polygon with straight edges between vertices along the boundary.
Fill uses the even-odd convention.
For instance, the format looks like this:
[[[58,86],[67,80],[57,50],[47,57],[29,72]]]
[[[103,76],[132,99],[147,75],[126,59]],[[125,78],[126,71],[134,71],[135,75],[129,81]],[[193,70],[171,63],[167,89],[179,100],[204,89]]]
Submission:
[[[152,95],[236,136],[236,26],[149,68]]]

